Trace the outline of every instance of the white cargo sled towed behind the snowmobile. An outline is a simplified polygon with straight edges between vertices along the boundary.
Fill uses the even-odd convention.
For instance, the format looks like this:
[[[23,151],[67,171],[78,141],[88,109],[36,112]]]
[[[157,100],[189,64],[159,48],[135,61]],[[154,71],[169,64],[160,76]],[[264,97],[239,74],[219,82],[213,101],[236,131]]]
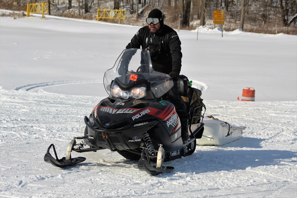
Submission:
[[[221,146],[242,137],[245,126],[235,126],[214,118],[203,118],[204,131],[202,138],[196,139],[198,145]]]

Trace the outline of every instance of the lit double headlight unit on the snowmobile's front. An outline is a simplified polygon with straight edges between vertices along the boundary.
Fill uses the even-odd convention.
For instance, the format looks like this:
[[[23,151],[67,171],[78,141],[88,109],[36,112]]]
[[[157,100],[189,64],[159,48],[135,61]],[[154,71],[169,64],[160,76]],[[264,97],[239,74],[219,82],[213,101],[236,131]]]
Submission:
[[[146,85],[143,84],[127,91],[121,90],[121,88],[119,88],[118,85],[113,85],[110,92],[111,92],[111,95],[116,98],[140,99],[146,96]]]

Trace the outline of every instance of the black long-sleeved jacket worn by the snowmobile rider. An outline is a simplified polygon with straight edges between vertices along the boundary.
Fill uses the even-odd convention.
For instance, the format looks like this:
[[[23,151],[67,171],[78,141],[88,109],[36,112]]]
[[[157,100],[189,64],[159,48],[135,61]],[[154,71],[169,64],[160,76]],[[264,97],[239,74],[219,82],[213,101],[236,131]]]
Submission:
[[[149,42],[151,41],[151,42]],[[181,41],[175,30],[164,25],[158,32],[151,33],[148,26],[144,26],[131,39],[129,48],[150,50],[153,69],[169,74],[171,71],[181,71]]]

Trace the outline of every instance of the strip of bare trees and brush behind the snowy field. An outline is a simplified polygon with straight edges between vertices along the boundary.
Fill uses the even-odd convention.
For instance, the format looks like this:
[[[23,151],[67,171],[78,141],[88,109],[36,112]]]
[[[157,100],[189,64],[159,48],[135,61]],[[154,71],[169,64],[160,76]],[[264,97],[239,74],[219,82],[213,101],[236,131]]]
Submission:
[[[0,9],[26,11],[28,3],[42,2],[49,4],[48,15],[68,18],[97,20],[98,9],[123,9],[126,19],[121,24],[145,26],[149,11],[158,8],[166,14],[164,23],[176,29],[210,26],[224,31],[297,35],[297,0],[1,0]],[[214,24],[214,10],[225,11],[223,26]],[[119,23],[118,19],[100,20]]]

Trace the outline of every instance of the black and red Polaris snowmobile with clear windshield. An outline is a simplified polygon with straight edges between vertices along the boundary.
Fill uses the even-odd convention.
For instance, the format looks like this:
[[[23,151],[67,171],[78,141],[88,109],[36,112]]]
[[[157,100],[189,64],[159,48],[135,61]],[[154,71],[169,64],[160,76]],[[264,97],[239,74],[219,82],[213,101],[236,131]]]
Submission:
[[[193,88],[189,86],[189,80],[182,77],[178,80],[179,92],[186,96]],[[84,135],[73,138],[66,157],[61,159],[51,144],[44,161],[64,168],[86,160],[84,157],[72,158],[72,151],[109,149],[126,159],[138,160],[139,170],[158,175],[174,170],[174,167],[163,166],[164,161],[189,156],[195,151],[196,138],[201,138],[203,133],[202,104],[193,108],[195,101],[189,96],[190,140],[183,143],[178,114],[174,105],[166,101],[173,80],[167,74],[154,71],[149,51],[124,50],[113,68],[105,72],[103,82],[109,96],[94,107],[89,117],[84,117]],[[198,121],[193,123],[197,117]],[[55,158],[50,154],[51,148]]]

